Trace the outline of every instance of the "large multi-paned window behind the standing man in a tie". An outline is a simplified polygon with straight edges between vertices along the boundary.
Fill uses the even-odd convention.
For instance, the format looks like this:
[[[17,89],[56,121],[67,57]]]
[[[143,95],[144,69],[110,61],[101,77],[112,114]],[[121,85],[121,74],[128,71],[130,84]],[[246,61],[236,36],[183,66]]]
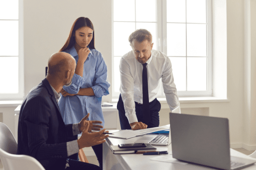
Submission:
[[[140,28],[151,32],[153,49],[171,59],[179,97],[212,95],[211,0],[114,0],[113,6],[113,98],[120,58],[132,50],[128,37]]]

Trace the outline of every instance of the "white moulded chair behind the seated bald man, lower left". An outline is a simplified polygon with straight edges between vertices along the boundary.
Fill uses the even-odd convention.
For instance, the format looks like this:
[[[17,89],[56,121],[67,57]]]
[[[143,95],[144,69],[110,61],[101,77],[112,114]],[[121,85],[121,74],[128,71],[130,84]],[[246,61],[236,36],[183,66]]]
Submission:
[[[17,142],[12,132],[0,122],[0,158],[4,170],[45,170],[35,158],[16,153]]]

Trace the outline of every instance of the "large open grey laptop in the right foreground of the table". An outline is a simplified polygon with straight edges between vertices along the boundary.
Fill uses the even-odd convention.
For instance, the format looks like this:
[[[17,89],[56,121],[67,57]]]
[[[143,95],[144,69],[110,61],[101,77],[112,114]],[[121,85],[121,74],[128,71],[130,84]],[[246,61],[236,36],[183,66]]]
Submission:
[[[226,118],[170,113],[170,129],[172,157],[178,160],[224,170],[238,170],[256,162],[230,156]]]

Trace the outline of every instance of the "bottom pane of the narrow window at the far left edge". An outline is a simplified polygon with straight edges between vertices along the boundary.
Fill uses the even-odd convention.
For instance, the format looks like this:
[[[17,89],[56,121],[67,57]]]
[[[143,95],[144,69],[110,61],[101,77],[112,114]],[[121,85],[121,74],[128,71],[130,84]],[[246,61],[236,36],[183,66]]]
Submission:
[[[0,93],[18,93],[18,57],[0,57]]]

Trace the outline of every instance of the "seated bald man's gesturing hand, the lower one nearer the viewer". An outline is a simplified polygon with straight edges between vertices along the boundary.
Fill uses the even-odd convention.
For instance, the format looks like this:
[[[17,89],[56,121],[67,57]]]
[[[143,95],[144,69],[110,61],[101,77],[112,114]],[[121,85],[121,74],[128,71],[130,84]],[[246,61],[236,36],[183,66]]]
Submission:
[[[99,145],[104,143],[109,135],[103,134],[106,129],[102,129],[101,131],[89,133],[89,123],[87,122],[85,125],[85,129],[82,131],[81,137],[77,140],[78,148],[85,148],[94,145]]]

